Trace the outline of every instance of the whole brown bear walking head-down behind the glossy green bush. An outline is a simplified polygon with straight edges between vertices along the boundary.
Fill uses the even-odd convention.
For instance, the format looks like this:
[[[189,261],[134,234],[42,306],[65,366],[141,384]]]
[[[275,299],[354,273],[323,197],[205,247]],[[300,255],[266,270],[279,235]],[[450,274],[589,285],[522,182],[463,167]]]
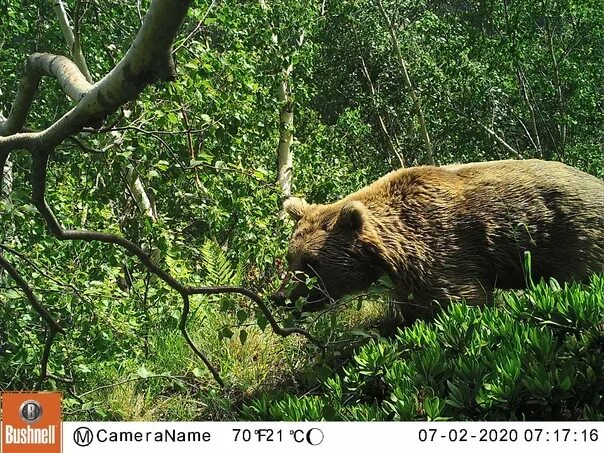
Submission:
[[[405,323],[451,300],[480,305],[532,277],[585,280],[604,269],[604,182],[559,162],[504,160],[394,171],[332,204],[290,198],[287,260],[315,276],[286,295],[320,309],[383,275]],[[291,273],[289,274],[291,278]]]

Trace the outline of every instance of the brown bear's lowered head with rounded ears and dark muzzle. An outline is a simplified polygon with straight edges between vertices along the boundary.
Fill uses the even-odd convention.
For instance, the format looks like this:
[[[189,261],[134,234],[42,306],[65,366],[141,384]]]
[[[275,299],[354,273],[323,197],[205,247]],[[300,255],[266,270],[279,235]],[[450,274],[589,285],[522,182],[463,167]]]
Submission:
[[[273,295],[275,301],[305,297],[305,311],[321,309],[345,294],[366,290],[383,274],[378,235],[361,201],[314,205],[292,197],[283,207],[297,224],[287,253],[290,274]],[[316,277],[313,288],[304,274]],[[283,289],[291,278],[296,284],[288,295]]]

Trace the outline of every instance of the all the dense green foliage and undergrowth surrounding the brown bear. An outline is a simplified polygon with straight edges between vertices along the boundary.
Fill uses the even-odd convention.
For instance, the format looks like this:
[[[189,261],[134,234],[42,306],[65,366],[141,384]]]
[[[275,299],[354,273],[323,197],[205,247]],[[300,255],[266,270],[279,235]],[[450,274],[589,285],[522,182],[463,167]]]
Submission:
[[[65,1],[94,80],[131,44],[140,25],[139,3],[142,9],[148,4]],[[48,202],[65,227],[122,234],[157,253],[162,268],[189,284],[274,290],[291,232],[291,223],[278,217],[275,183],[277,88],[290,63],[296,194],[333,201],[397,168],[388,140],[408,165],[427,162],[374,1],[266,3],[267,9],[255,1],[195,2],[175,43],[178,79],[146,90],[108,118],[111,131],[91,130],[57,149]],[[515,157],[503,141],[524,157],[561,160],[604,176],[599,2],[387,0],[384,6],[422,99],[437,163]],[[52,2],[0,2],[4,116],[23,62],[35,51],[68,52]],[[55,81],[44,79],[27,126],[46,127],[70,105]],[[595,327],[602,323],[601,279],[585,292],[539,287],[532,299],[519,300],[507,294],[503,308],[456,306],[433,327],[420,324],[395,341],[367,345],[352,361],[349,349],[374,335],[362,329],[383,316],[386,304],[378,292],[360,310],[308,320],[314,333],[333,340],[323,355],[300,338],[271,334],[248,300],[195,297],[189,328],[220,368],[227,383],[221,390],[178,331],[178,294],[119,248],[51,237],[31,204],[30,157],[11,158],[14,183],[10,196],[0,199],[1,252],[67,330],[50,355],[49,371],[60,379],[47,380],[45,388],[65,392],[72,419],[233,418],[242,401],[258,392],[297,395],[318,381],[328,396],[295,404],[290,399],[291,410],[285,397],[275,407],[283,408],[283,417],[347,419],[590,418],[590,410],[598,404],[601,409],[593,398],[598,388],[602,394],[602,363],[592,357],[602,348],[602,331]],[[127,191],[128,168],[154,199],[155,222],[139,212]],[[561,294],[568,294],[568,307],[585,303],[595,311],[565,314],[557,303],[549,313],[544,304]],[[275,313],[286,324],[294,322],[290,313]],[[591,326],[579,323],[590,319]],[[455,337],[470,324],[475,328],[468,337]],[[0,390],[36,384],[45,335],[45,324],[0,273]],[[551,338],[556,347],[547,350],[531,340],[530,347],[514,349],[535,335]],[[498,347],[503,336],[510,340]],[[418,341],[423,358],[414,350]],[[488,352],[492,360],[475,356],[472,362],[471,354],[460,356],[462,349]],[[542,368],[531,368],[539,354],[545,354]],[[433,362],[437,358],[444,361]],[[422,364],[446,369],[440,375],[425,369],[425,380],[416,381]],[[589,369],[599,387],[589,387]],[[519,370],[529,373],[526,382],[513,379]],[[325,380],[329,375],[339,377]],[[470,378],[474,387],[460,385]],[[527,402],[527,392],[535,401]],[[279,418],[266,401],[251,403],[246,417]]]

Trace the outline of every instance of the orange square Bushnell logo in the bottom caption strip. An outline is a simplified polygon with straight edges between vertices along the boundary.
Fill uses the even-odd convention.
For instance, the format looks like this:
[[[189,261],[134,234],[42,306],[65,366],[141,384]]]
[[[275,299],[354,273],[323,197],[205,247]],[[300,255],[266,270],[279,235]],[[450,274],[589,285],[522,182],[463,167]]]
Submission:
[[[61,393],[2,393],[2,453],[61,453]]]

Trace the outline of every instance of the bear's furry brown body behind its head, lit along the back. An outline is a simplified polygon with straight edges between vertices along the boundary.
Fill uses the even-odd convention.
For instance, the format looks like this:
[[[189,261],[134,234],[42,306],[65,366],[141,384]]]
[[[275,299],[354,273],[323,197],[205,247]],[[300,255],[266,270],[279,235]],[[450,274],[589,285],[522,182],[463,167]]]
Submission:
[[[404,224],[396,229],[432,250],[433,265],[471,265],[499,287],[523,286],[526,251],[537,279],[604,271],[604,182],[559,162],[401,169],[347,198],[381,224]]]

